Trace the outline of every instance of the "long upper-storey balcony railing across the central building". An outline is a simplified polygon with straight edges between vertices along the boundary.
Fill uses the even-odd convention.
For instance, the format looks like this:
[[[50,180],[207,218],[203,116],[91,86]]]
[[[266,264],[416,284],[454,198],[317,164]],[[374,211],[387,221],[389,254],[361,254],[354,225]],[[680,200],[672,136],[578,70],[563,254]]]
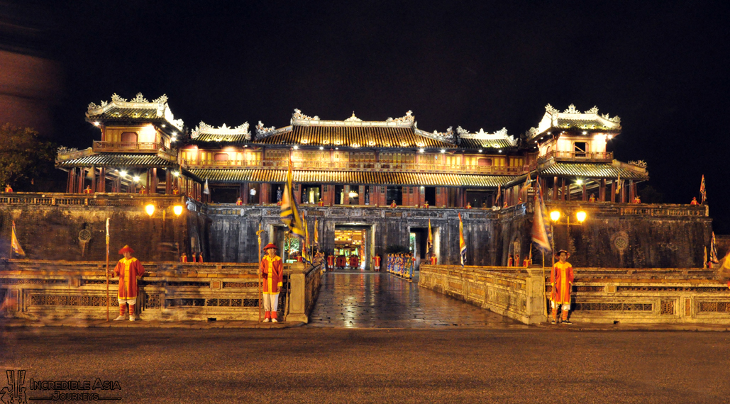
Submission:
[[[285,169],[288,160],[183,160],[188,168],[247,168],[247,169]],[[523,174],[528,166],[469,166],[461,164],[428,163],[391,163],[391,162],[331,162],[331,161],[293,161],[295,170],[320,171],[397,171],[397,172],[434,172],[450,174]]]

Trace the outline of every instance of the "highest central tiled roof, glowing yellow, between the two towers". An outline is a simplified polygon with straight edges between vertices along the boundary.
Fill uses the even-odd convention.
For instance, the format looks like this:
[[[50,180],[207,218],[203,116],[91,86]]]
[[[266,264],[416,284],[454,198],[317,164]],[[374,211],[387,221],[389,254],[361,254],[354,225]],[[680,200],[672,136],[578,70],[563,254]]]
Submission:
[[[455,144],[420,136],[410,127],[293,125],[291,128],[291,131],[257,139],[255,143],[324,147],[456,148]]]

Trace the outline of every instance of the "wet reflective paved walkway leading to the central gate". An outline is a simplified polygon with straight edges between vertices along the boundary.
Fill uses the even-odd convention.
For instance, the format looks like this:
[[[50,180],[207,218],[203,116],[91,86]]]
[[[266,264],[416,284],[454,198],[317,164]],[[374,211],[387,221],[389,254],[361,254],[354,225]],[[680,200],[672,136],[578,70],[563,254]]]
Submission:
[[[307,327],[527,327],[390,273],[328,272]]]

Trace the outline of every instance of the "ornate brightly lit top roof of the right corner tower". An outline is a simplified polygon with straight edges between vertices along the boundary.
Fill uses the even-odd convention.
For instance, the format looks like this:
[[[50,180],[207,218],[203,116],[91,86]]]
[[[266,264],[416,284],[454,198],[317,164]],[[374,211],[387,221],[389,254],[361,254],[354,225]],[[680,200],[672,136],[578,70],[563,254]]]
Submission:
[[[609,114],[601,115],[596,106],[588,109],[588,111],[580,112],[575,108],[575,105],[570,104],[568,109],[558,112],[558,109],[548,104],[545,106],[545,114],[542,116],[537,128],[530,128],[528,131],[529,139],[550,130],[617,133],[621,131],[621,118],[618,116],[610,117]]]

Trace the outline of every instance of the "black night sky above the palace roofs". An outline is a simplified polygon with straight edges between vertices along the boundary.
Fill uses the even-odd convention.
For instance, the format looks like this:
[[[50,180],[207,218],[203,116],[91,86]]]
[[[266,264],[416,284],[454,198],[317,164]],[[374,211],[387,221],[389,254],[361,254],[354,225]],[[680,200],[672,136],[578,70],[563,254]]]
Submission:
[[[715,231],[730,233],[727,1],[169,3],[51,9],[59,142],[88,147],[86,106],[112,93],[166,93],[191,127],[412,109],[427,131],[517,135],[545,104],[595,105],[621,117],[615,157],[646,160],[665,202],[691,201],[704,174]]]

